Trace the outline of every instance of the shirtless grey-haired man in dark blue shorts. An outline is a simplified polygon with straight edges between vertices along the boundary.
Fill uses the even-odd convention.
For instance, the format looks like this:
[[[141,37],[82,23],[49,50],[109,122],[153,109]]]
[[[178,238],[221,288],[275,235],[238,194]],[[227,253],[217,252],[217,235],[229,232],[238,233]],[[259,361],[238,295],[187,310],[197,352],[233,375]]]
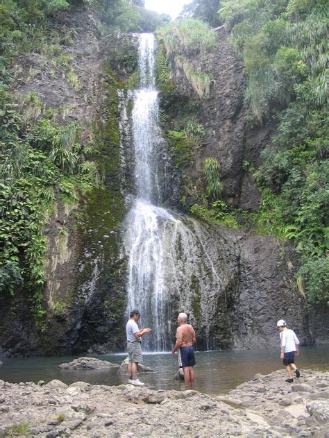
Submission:
[[[180,359],[183,366],[185,389],[194,389],[194,344],[195,344],[195,332],[194,328],[186,323],[187,314],[180,313],[177,318],[179,327],[176,332],[176,344],[171,351],[171,355],[175,355],[175,352],[180,351]]]

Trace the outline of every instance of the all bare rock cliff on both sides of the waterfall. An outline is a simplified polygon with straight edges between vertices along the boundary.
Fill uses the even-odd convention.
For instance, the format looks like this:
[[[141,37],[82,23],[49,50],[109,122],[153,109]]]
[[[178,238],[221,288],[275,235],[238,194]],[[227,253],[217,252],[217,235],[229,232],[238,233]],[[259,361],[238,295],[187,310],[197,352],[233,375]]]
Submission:
[[[66,24],[76,29],[66,53],[72,58],[81,84],[79,89],[63,80],[56,64],[45,56],[30,53],[19,60],[23,69],[13,92],[17,98],[29,91],[36,92],[47,108],[65,107],[62,115],[65,121],[79,121],[82,141],[92,140],[99,146],[103,186],[76,205],[67,205],[58,195],[56,211],[44,228],[49,242],[45,330],[42,334],[36,332],[24,291],[18,293],[15,311],[0,310],[3,328],[0,350],[8,355],[102,353],[124,348],[126,258],[121,221],[125,204],[120,186],[117,89],[121,87],[118,78],[126,79],[135,67],[132,60],[136,35],[104,39],[97,31],[94,17],[87,12],[68,17]],[[236,60],[223,30],[218,32],[218,50],[206,57],[196,56],[192,61],[196,67],[210,72],[212,85],[210,98],[201,102],[200,122],[206,135],[188,172],[196,189],[202,191],[202,162],[208,156],[217,158],[226,201],[252,210],[258,206],[259,194],[251,176],[246,176],[242,169],[246,158],[243,66]],[[31,71],[35,75],[27,80]],[[178,99],[163,105],[171,117],[175,117],[175,105],[180,100],[187,101],[191,96],[197,100],[177,66],[173,80]],[[253,154],[256,160],[262,147],[262,133],[254,143],[254,151],[253,137],[248,144],[248,154]],[[175,196],[172,202],[175,203]],[[201,228],[202,257],[210,258],[220,273],[219,287],[210,287],[203,295],[197,288],[182,289],[181,294],[173,296],[172,332],[176,312],[189,308],[200,349],[276,345],[276,321],[280,318],[287,319],[301,342],[310,344],[317,339],[323,327],[313,320],[309,324],[303,296],[293,287],[296,260],[291,249],[282,248],[271,237],[218,226]],[[203,280],[211,285],[211,273],[206,273]]]

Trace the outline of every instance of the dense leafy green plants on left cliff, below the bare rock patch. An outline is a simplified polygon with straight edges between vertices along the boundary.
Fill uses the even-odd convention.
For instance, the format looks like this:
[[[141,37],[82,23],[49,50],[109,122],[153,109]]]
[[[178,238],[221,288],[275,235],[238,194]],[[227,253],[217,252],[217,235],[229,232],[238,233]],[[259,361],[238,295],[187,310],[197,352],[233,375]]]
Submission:
[[[60,125],[44,116],[33,124],[35,111],[27,120],[6,89],[1,97],[1,296],[13,295],[17,287],[30,290],[31,309],[42,328],[45,221],[54,208],[56,193],[63,201],[78,199],[77,189],[83,194],[95,185],[96,171],[78,142],[78,124]]]

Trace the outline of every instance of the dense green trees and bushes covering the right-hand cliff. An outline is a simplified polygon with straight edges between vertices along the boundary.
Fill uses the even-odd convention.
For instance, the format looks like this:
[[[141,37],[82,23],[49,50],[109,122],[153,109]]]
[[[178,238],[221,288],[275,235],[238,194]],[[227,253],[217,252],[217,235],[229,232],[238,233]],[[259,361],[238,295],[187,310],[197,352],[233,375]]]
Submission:
[[[278,126],[254,175],[263,194],[255,224],[292,239],[298,284],[310,304],[329,305],[328,4],[221,1],[219,15],[244,60],[247,126]]]

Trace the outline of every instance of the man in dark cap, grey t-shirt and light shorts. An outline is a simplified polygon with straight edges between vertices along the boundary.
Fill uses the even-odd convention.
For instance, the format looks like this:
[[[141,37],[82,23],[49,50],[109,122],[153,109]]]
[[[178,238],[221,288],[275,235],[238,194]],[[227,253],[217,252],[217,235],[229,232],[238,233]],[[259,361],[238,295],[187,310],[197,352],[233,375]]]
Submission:
[[[139,328],[137,321],[140,319],[140,312],[132,310],[130,312],[130,319],[126,324],[127,335],[127,351],[128,351],[128,383],[136,386],[144,385],[143,382],[137,379],[137,366],[142,362],[142,347],[141,337],[145,333],[151,332],[151,328]]]

